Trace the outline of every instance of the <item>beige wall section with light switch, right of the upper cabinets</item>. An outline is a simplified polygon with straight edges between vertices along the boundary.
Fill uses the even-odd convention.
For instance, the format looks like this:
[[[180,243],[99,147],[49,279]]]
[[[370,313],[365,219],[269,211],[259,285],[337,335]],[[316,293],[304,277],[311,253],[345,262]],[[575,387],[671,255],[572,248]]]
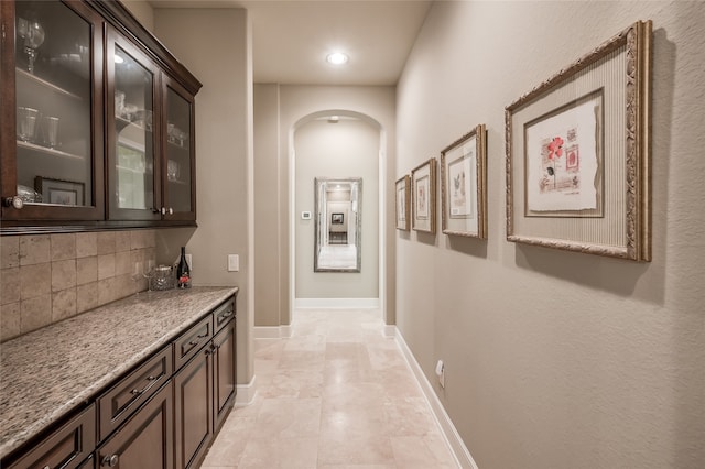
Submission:
[[[251,62],[247,12],[241,9],[155,9],[158,37],[203,83],[196,96],[196,214],[198,228],[161,230],[158,254],[193,254],[195,285],[237,285],[238,383],[253,375],[252,262],[248,217],[251,165]],[[187,32],[187,33],[185,33]],[[239,254],[240,271],[227,271]]]

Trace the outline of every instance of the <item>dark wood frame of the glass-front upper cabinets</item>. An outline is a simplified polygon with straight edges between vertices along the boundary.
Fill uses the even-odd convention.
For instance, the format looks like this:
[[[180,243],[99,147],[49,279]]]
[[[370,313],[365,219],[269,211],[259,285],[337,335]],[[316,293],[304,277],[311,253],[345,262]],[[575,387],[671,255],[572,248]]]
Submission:
[[[91,55],[91,200],[93,206],[50,206],[28,204],[22,209],[6,206],[4,201],[17,195],[17,139],[15,139],[15,41],[14,19],[15,8],[13,1],[0,2],[0,22],[3,31],[3,40],[0,44],[0,160],[2,171],[0,173],[1,217],[0,234],[18,234],[30,232],[64,232],[64,231],[95,231],[101,229],[126,229],[144,227],[195,226],[195,109],[194,96],[202,84],[181,64],[164,45],[156,40],[137,19],[118,1],[98,0],[56,0],[72,8],[82,18],[91,24],[93,55]],[[105,32],[104,32],[105,31]],[[110,31],[110,32],[108,32]],[[112,194],[112,177],[107,171],[110,166],[108,150],[110,149],[109,129],[113,121],[108,112],[111,109],[110,101],[113,97],[108,92],[109,83],[112,80],[110,66],[107,63],[112,54],[107,54],[107,44],[110,37],[119,36],[131,44],[155,67],[158,74],[154,84],[156,99],[162,100],[162,91],[165,83],[173,89],[180,90],[182,96],[188,97],[192,103],[191,117],[191,198],[192,210],[188,212],[170,214],[162,211],[164,197],[165,162],[163,151],[164,135],[159,132],[156,122],[155,135],[155,165],[154,178],[155,197],[154,212],[149,210],[118,211],[110,210],[108,195]],[[105,70],[108,70],[106,74]],[[162,105],[156,105],[154,117],[162,111]],[[115,143],[115,142],[113,142]],[[50,175],[51,176],[51,175]],[[159,212],[156,212],[159,210]]]

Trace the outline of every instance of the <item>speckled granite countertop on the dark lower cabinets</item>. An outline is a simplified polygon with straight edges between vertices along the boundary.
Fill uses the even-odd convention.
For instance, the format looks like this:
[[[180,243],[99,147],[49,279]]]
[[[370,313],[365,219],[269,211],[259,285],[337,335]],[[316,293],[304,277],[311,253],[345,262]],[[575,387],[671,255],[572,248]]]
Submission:
[[[96,397],[237,291],[142,292],[0,343],[0,458]]]

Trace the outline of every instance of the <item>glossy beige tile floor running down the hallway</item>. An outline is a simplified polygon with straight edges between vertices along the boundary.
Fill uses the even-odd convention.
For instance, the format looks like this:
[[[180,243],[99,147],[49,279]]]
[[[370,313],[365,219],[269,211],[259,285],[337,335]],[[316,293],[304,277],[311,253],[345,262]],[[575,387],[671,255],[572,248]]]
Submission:
[[[257,339],[254,402],[235,408],[202,469],[457,468],[378,310],[297,310]]]

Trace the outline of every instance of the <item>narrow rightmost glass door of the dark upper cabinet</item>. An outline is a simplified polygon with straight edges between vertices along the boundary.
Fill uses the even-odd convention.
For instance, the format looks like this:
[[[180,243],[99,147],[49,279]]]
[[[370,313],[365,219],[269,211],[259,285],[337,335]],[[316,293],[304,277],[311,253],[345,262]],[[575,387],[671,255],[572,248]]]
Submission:
[[[195,220],[194,98],[164,77],[166,144],[164,145],[164,219]]]

